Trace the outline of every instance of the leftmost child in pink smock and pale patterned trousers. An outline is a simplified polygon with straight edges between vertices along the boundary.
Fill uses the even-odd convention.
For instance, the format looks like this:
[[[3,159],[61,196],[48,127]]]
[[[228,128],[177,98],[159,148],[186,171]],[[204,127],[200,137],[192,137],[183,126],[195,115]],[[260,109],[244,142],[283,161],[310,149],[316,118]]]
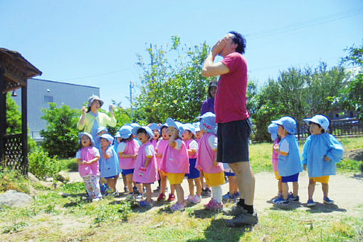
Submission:
[[[92,135],[87,132],[81,132],[80,149],[75,154],[78,161],[78,172],[83,181],[85,181],[85,189],[92,201],[102,199],[100,191],[100,152],[95,147]]]

